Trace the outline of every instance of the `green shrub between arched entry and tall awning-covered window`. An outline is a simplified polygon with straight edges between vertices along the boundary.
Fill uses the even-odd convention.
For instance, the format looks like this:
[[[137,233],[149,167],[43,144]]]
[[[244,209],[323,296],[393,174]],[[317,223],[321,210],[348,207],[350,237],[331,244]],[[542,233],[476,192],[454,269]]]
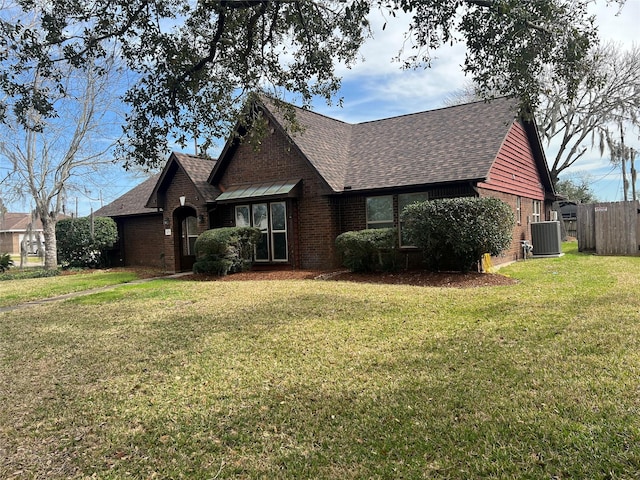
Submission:
[[[260,230],[252,227],[215,228],[203,232],[196,239],[193,272],[224,276],[248,270],[253,247],[260,235]]]

